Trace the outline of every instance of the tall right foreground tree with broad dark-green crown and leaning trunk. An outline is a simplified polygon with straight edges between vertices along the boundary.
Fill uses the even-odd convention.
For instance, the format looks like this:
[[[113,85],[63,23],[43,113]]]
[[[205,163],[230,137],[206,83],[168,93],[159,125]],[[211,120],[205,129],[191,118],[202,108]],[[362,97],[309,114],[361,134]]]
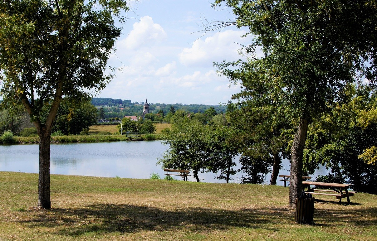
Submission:
[[[302,191],[302,157],[308,125],[312,119],[328,113],[341,98],[345,84],[355,82],[360,74],[374,81],[376,74],[375,2],[363,0],[260,1],[216,0],[233,8],[234,23],[212,25],[218,29],[229,24],[247,27],[254,40],[244,50],[247,61],[223,63],[221,72],[233,74],[253,69],[266,78],[250,75],[240,81],[258,82],[269,87],[271,98],[281,104],[277,113],[295,125],[291,145],[290,205]],[[349,16],[353,16],[350,18]],[[255,55],[261,49],[262,56]],[[370,65],[365,65],[366,62]],[[238,66],[239,69],[229,68]],[[366,67],[369,66],[369,67]],[[245,86],[245,85],[244,85]]]

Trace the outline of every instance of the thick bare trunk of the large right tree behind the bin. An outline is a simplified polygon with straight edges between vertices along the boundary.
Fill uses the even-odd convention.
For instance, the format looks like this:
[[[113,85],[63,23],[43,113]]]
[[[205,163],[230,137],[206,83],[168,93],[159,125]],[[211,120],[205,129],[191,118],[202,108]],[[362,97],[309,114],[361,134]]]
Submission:
[[[308,119],[300,119],[299,127],[294,135],[291,150],[291,177],[289,184],[289,204],[296,206],[296,198],[302,192],[302,157],[308,132]]]

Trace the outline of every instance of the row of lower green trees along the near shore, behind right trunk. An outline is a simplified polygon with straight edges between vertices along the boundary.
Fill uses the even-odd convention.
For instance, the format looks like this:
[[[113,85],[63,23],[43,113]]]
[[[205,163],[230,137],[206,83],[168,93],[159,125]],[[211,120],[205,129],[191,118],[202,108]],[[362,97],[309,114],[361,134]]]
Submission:
[[[303,175],[324,165],[331,169],[319,182],[348,182],[360,192],[377,194],[377,93],[367,85],[347,85],[345,99],[332,111],[313,119],[303,152]],[[250,101],[227,104],[225,113],[172,114],[172,128],[163,130],[169,148],[159,160],[164,168],[214,172],[226,182],[239,171],[243,183],[262,183],[272,172],[276,185],[282,158],[291,159],[294,123],[277,118],[274,108]],[[203,117],[207,121],[203,121]],[[241,169],[234,157],[239,155]]]

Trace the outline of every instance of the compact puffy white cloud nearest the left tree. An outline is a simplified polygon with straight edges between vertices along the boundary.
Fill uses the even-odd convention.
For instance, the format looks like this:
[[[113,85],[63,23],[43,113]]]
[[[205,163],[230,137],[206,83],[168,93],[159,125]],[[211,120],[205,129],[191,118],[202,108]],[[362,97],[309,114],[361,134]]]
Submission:
[[[153,19],[144,16],[139,22],[133,24],[133,29],[121,44],[127,49],[137,49],[140,46],[160,42],[166,38],[166,32],[157,23],[153,23]]]

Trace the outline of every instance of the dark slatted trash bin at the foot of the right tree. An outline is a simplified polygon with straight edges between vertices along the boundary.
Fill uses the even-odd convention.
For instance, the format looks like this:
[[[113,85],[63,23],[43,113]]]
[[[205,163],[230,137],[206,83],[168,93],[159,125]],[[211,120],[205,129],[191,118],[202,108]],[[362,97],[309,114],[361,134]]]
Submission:
[[[301,195],[296,198],[296,223],[312,224],[314,217],[314,197]]]

